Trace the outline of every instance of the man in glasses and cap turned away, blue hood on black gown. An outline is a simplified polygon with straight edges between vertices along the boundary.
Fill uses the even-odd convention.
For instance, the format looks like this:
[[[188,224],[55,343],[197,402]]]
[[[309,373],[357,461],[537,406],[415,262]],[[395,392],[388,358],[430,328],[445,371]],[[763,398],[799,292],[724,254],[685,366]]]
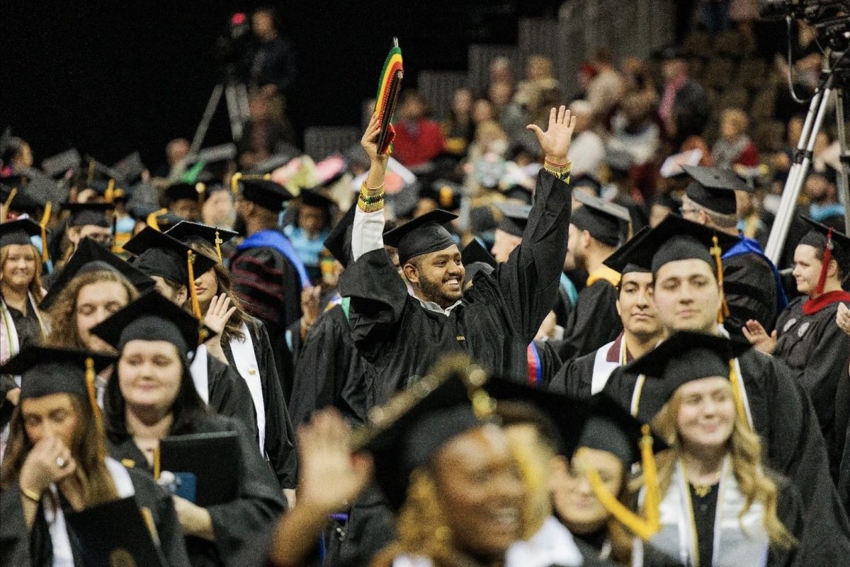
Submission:
[[[739,236],[735,193],[752,189],[734,171],[717,167],[682,166],[693,179],[685,188],[682,216],[717,232]],[[788,300],[779,271],[754,239],[741,238],[723,254],[723,291],[729,316],[723,325],[742,336],[750,319],[774,328],[776,316]]]

